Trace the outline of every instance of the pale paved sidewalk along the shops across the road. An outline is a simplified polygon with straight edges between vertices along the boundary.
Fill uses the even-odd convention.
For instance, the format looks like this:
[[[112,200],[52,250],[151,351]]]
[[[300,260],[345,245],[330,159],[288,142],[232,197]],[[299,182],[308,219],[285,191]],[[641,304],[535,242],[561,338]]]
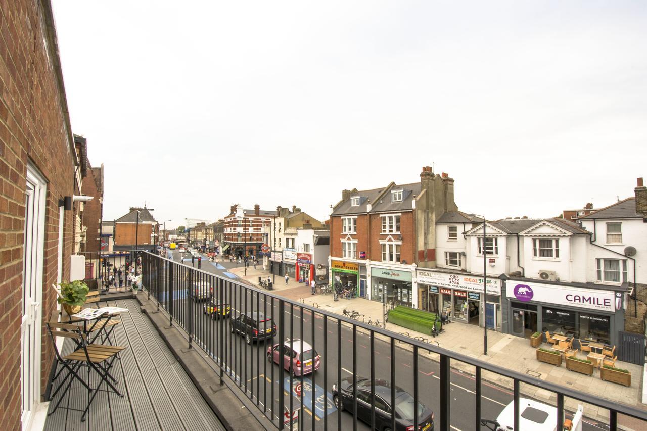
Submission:
[[[259,276],[267,278],[269,275],[269,272],[263,270],[262,266],[257,267],[256,270],[253,267],[248,268],[247,275],[245,275],[245,269],[243,267],[230,269],[230,272],[238,276],[241,281],[256,287],[258,287]],[[320,289],[318,289],[318,292],[320,292]],[[319,307],[338,315],[342,315],[344,309],[354,310],[360,313],[360,320],[364,320],[364,322],[375,322],[378,320],[380,327],[384,326],[384,309],[383,305],[379,302],[369,301],[364,298],[353,298],[351,300],[340,298],[338,301],[334,301],[332,294],[323,295],[318,293],[313,295],[309,286],[303,283],[297,283],[293,279],[289,279],[286,284],[284,278],[278,275],[276,276],[273,293],[292,300],[300,300],[304,304],[313,305],[314,307]],[[580,392],[604,397],[615,403],[628,404],[647,410],[647,405],[641,402],[643,368],[635,364],[617,362],[618,368],[631,371],[631,386],[626,388],[619,384],[602,381],[599,377],[598,370],[589,377],[581,373],[566,370],[564,365],[555,367],[550,364],[538,362],[536,360],[536,349],[530,346],[530,340],[527,338],[488,331],[488,354],[483,355],[483,329],[462,322],[446,324],[444,326],[444,333],[441,333],[437,337],[431,337],[428,334],[411,331],[411,329],[390,323],[386,323],[386,329],[412,338],[437,342],[439,346],[445,349],[461,353],[468,357],[483,360],[509,370],[518,371],[519,373],[527,373],[538,379],[560,384]],[[548,347],[547,344],[543,344],[542,346],[544,348]],[[583,357],[582,353],[579,356]],[[437,358],[435,359],[438,360]],[[466,373],[474,373],[473,366],[455,360],[452,361],[452,367],[465,371]],[[485,371],[483,372],[483,377],[504,388],[512,388],[512,381],[505,377]],[[545,401],[551,404],[556,403],[556,395],[542,388],[522,385],[521,392],[538,399],[538,401]],[[571,410],[575,410],[577,404],[578,401],[576,400],[565,400],[566,408]],[[587,417],[598,419],[602,423],[608,423],[609,416],[606,410],[585,404],[584,411]],[[644,423],[636,423],[631,418],[620,417],[619,423],[624,429],[646,429],[644,428]]]

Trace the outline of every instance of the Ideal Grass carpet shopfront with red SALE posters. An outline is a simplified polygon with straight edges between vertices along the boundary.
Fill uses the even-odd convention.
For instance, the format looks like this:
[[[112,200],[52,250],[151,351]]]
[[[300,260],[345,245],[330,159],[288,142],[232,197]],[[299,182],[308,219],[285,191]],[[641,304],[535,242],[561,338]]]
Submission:
[[[483,326],[483,276],[419,269],[416,272],[418,308],[447,313],[458,322]],[[501,329],[501,280],[487,278],[485,323]]]

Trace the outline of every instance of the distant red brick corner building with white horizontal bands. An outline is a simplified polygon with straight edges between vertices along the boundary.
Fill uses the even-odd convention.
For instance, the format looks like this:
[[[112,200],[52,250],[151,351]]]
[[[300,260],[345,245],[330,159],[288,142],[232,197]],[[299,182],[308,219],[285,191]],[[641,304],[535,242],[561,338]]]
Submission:
[[[263,227],[269,226],[274,217],[275,211],[261,210],[258,204],[254,205],[253,210],[232,205],[230,214],[224,219],[223,253],[256,256],[265,240]]]

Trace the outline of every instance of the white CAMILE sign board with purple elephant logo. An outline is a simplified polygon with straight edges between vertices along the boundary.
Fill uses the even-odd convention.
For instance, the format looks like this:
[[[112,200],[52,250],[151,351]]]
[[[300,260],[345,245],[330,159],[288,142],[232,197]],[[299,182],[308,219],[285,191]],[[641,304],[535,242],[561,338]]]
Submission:
[[[507,282],[506,294],[508,298],[521,302],[536,301],[588,310],[614,311],[613,291],[510,280]]]

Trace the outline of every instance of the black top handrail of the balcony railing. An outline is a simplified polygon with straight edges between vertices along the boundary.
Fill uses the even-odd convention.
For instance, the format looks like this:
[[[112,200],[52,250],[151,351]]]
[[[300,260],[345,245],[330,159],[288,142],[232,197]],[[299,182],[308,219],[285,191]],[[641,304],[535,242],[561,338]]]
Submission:
[[[182,265],[181,263],[178,263],[176,261],[173,261],[171,259],[165,258],[164,256],[159,256],[159,254],[151,253],[146,250],[138,250],[139,252],[144,252],[147,254],[150,254],[151,256],[155,256],[155,258],[159,258],[162,260],[166,260],[169,263],[174,263],[176,265]],[[486,370],[486,371],[491,371],[493,373],[496,373],[498,375],[501,375],[503,377],[507,377],[512,380],[516,380],[519,382],[523,382],[526,384],[530,384],[532,386],[535,386],[537,388],[542,388],[545,390],[548,390],[550,392],[554,393],[561,393],[565,397],[573,398],[578,401],[583,401],[584,403],[589,403],[593,404],[598,407],[606,408],[607,410],[617,412],[619,414],[623,415],[628,415],[631,417],[634,417],[636,419],[642,419],[643,421],[647,421],[647,411],[641,410],[639,408],[629,406],[627,404],[619,404],[619,403],[614,403],[613,401],[610,401],[608,399],[596,397],[595,395],[589,395],[584,392],[579,392],[577,390],[567,388],[565,386],[561,386],[556,383],[552,382],[547,382],[543,381],[541,379],[538,379],[536,377],[532,377],[531,375],[523,374],[518,371],[514,370],[508,370],[507,368],[502,368],[500,366],[490,364],[488,362],[485,362],[481,359],[475,359],[472,357],[468,357],[466,355],[463,355],[461,353],[457,353],[452,350],[444,349],[441,347],[433,346],[432,344],[428,344],[426,342],[422,342],[420,340],[416,340],[415,338],[410,338],[410,337],[404,337],[400,335],[399,333],[395,333],[393,331],[389,331],[388,329],[382,329],[381,327],[377,326],[371,326],[369,324],[365,324],[363,322],[360,322],[358,320],[353,320],[351,318],[344,317],[342,315],[338,315],[336,313],[333,313],[331,311],[326,311],[324,309],[320,308],[315,308],[312,307],[311,305],[303,304],[302,302],[294,301],[289,298],[285,298],[283,296],[276,295],[270,291],[267,291],[265,289],[259,289],[258,287],[252,285],[252,284],[244,284],[237,282],[236,280],[232,280],[230,278],[225,278],[223,276],[220,276],[218,274],[213,274],[211,272],[204,271],[203,269],[197,269],[194,267],[188,267],[187,265],[183,265],[186,267],[186,269],[189,269],[191,271],[197,271],[197,272],[202,272],[203,274],[206,274],[207,276],[210,277],[215,277],[220,280],[223,280],[225,282],[229,283],[237,283],[240,285],[243,285],[246,289],[251,289],[252,291],[256,291],[256,293],[261,293],[266,296],[269,296],[270,298],[276,298],[277,300],[281,300],[285,302],[287,305],[294,305],[295,307],[300,307],[302,309],[307,309],[308,311],[314,311],[314,313],[318,313],[320,315],[328,316],[331,318],[334,318],[336,320],[339,320],[340,322],[345,322],[346,324],[349,324],[351,326],[356,326],[360,327],[362,329],[366,329],[367,331],[384,335],[389,338],[393,338],[395,340],[398,340],[400,342],[405,342],[407,344],[411,344],[411,346],[417,346],[419,349],[424,349],[426,351],[430,351],[433,353],[437,353],[438,355],[443,355],[446,356],[450,359],[458,360],[459,362],[463,362],[465,364],[469,364],[472,366],[475,366],[477,368],[480,368],[481,370]]]

